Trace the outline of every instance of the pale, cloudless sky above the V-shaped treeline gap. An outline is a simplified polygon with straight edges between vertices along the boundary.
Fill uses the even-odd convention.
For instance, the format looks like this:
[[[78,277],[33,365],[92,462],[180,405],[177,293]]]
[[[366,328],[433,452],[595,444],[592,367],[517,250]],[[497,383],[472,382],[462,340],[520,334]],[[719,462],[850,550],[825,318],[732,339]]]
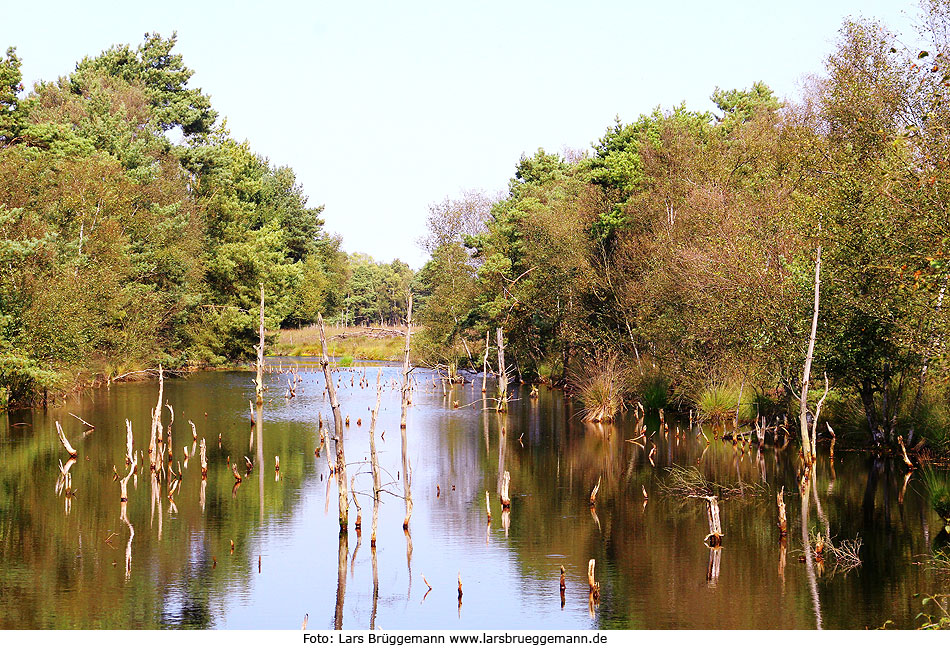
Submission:
[[[522,155],[619,117],[764,81],[796,99],[845,17],[912,33],[896,0],[6,3],[27,88],[146,32],[178,34],[231,135],[289,165],[343,247],[414,268],[428,207],[507,188]]]

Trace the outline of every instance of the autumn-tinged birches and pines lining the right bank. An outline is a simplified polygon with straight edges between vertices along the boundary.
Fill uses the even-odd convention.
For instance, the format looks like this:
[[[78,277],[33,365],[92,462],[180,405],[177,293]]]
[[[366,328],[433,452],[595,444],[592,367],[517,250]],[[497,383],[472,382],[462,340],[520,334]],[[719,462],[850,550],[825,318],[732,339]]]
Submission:
[[[480,368],[501,327],[528,382],[583,396],[612,370],[628,403],[794,414],[820,246],[826,414],[945,446],[950,3],[924,0],[911,42],[848,20],[798,102],[715,89],[716,111],[618,118],[589,154],[523,157],[500,198],[434,205],[427,346]]]

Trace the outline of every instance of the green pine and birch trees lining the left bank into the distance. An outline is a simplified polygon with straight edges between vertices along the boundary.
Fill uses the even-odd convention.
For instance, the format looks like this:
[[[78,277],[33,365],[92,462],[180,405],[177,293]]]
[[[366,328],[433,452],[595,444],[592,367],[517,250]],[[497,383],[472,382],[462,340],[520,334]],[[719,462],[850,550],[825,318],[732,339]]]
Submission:
[[[253,357],[317,313],[394,321],[412,277],[349,255],[293,170],[233,139],[176,37],[24,93],[0,59],[0,408],[95,379]]]

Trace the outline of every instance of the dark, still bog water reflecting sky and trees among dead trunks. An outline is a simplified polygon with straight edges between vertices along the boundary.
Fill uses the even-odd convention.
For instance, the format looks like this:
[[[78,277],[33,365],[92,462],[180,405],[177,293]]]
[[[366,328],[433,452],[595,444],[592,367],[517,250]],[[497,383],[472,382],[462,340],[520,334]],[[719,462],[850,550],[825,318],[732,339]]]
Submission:
[[[702,435],[685,429],[677,438],[675,426],[668,438],[649,436],[657,416],[648,415],[642,449],[626,441],[634,436],[631,423],[585,426],[561,392],[542,387],[539,398],[529,399],[526,391],[518,397],[516,388],[520,400],[499,417],[482,409],[480,384],[443,396],[421,371],[408,427],[415,503],[410,539],[402,529],[397,479],[400,409],[393,383],[401,370],[395,367],[383,367],[376,429],[390,493],[383,495],[374,555],[365,460],[376,368],[365,371],[368,389],[358,380],[351,386],[352,372],[338,374],[351,420],[345,441],[362,537],[353,528],[352,504],[349,535],[339,536],[336,481],[328,485],[326,455],[314,455],[317,414],[331,418],[316,369],[301,371],[290,401],[281,397],[286,376],[268,376],[273,389],[261,436],[248,418],[253,374],[167,380],[181,489],[173,505],[163,482],[154,502],[146,465],[129,482],[128,525],[113,466],[125,475],[125,419],[132,422],[135,448],[146,448],[157,381],[97,390],[45,413],[0,415],[0,627],[295,629],[305,614],[310,629],[813,629],[874,628],[888,620],[913,627],[922,610],[914,595],[950,587],[950,576],[927,562],[942,521],[927,506],[920,474],[905,487],[893,461],[838,453],[832,468],[825,455],[803,499],[794,447],[736,448],[708,430],[707,446]],[[69,412],[96,429],[83,435]],[[163,416],[167,425],[169,411]],[[79,451],[71,500],[56,491],[57,460],[65,462],[66,454],[55,420]],[[189,420],[208,442],[203,503],[197,452],[186,465],[182,450],[192,450]],[[656,467],[648,460],[653,442]],[[244,470],[244,456],[255,468],[235,487],[226,461]],[[674,464],[698,464],[708,478],[741,486],[743,495],[720,503],[721,550],[703,543],[703,501],[664,494]],[[512,509],[504,518],[500,468],[511,474]],[[588,498],[598,478],[592,513]],[[790,531],[784,548],[775,525],[775,491],[782,486]],[[863,563],[849,572],[832,563],[816,567],[810,558],[803,563],[803,529],[836,542],[859,536]],[[601,583],[594,605],[590,559]],[[567,572],[563,606],[561,565]],[[423,576],[432,586],[428,594]]]

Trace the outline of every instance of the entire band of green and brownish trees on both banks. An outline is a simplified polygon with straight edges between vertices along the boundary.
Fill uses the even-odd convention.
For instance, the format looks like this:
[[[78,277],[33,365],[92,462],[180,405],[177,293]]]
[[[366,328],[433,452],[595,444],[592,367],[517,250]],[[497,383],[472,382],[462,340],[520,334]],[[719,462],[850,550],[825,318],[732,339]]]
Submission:
[[[946,444],[950,2],[904,39],[846,21],[799,101],[764,82],[714,111],[619,118],[522,157],[500,196],[431,207],[413,272],[348,254],[287,167],[230,135],[175,36],[113,46],[24,92],[0,60],[0,405],[163,363],[252,357],[318,312],[397,325],[414,357],[481,368],[502,328],[525,382],[614,371],[628,403],[788,413],[822,250],[812,387],[852,433]],[[491,336],[494,341],[494,335]]]

